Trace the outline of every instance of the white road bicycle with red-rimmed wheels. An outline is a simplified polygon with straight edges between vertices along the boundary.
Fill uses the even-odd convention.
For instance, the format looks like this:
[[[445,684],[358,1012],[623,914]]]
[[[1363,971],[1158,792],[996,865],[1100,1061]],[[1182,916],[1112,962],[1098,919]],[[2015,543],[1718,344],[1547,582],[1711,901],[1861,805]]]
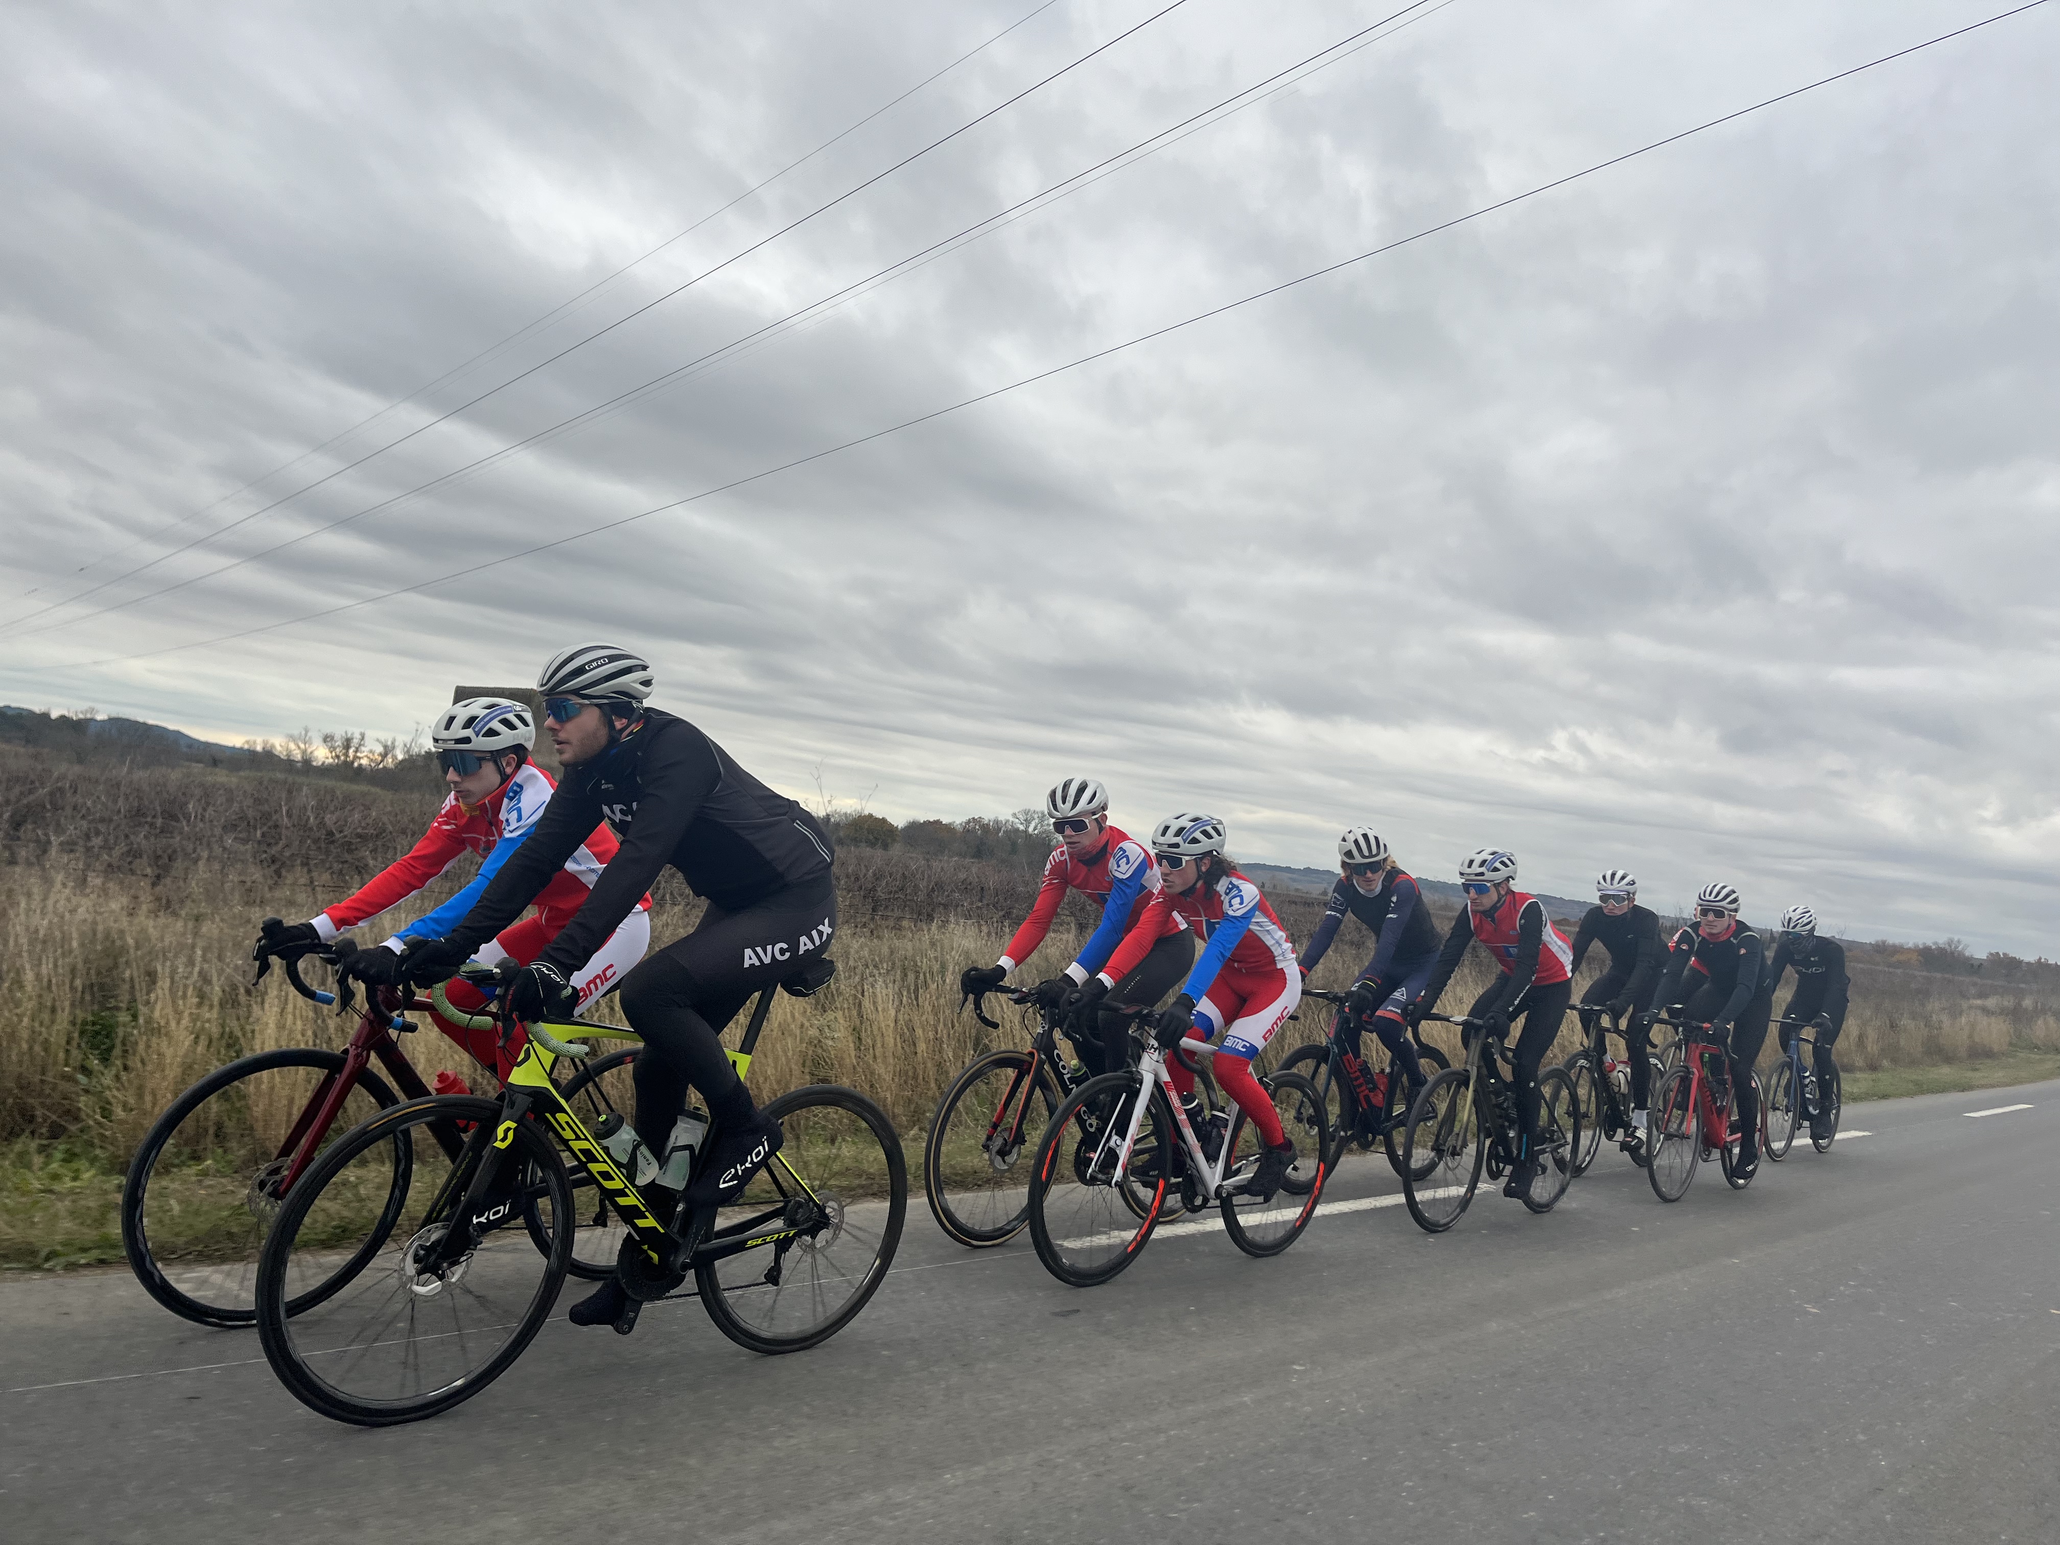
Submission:
[[[1147,1007],[1106,1011],[1147,1024],[1152,1016]],[[1180,1040],[1187,1059],[1211,1059],[1215,1051],[1195,1036]],[[1259,1086],[1296,1145],[1288,1182],[1269,1197],[1244,1191],[1259,1164],[1259,1127],[1236,1102],[1205,1104],[1197,1133],[1158,1042],[1143,1042],[1135,1067],[1082,1084],[1053,1112],[1032,1162],[1030,1240],[1044,1269],[1071,1288],[1112,1279],[1137,1259],[1152,1230],[1176,1215],[1174,1193],[1197,1213],[1215,1203],[1224,1232],[1246,1255],[1279,1255],[1294,1244],[1323,1195],[1331,1131],[1304,1075],[1281,1069],[1261,1075]]]

